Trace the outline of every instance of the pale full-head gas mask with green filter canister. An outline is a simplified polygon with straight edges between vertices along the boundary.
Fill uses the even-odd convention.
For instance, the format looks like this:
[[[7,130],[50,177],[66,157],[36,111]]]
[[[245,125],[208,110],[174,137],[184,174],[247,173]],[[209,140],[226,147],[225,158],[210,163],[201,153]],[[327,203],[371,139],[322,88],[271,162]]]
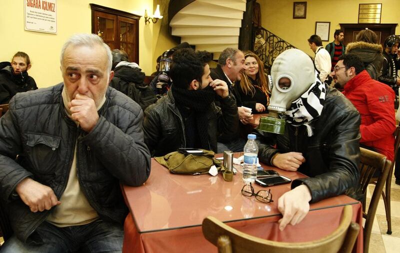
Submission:
[[[257,129],[283,134],[283,114],[291,108],[293,101],[315,83],[315,69],[310,57],[299,49],[288,49],[273,61],[268,83],[271,88],[267,117],[261,117]],[[324,98],[324,97],[323,97]],[[298,101],[301,105],[301,101]],[[293,117],[294,118],[294,117]]]

